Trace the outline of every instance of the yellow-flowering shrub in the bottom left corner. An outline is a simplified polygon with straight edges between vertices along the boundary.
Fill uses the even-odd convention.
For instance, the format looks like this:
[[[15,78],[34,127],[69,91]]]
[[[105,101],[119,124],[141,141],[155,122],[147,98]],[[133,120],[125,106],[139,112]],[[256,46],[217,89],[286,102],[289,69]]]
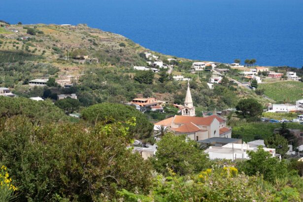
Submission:
[[[7,202],[13,198],[13,192],[17,191],[17,187],[12,184],[7,168],[0,168],[0,202]]]

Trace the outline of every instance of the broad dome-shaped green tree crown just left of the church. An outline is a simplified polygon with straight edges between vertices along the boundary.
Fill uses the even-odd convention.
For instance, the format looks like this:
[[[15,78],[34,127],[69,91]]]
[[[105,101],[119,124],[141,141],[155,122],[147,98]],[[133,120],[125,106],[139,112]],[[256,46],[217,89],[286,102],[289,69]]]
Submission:
[[[117,103],[101,103],[87,107],[82,111],[82,118],[95,124],[98,121],[126,121],[132,117],[136,119],[136,126],[131,127],[131,133],[136,138],[149,138],[153,132],[153,125],[149,123],[144,114],[136,110],[134,107]]]

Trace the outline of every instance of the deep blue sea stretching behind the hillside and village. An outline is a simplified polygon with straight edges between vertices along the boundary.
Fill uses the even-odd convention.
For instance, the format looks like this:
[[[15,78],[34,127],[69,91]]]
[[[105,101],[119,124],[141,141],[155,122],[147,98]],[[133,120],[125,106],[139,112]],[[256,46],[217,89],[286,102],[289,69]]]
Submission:
[[[183,58],[303,66],[303,0],[1,0],[11,24],[79,24]]]

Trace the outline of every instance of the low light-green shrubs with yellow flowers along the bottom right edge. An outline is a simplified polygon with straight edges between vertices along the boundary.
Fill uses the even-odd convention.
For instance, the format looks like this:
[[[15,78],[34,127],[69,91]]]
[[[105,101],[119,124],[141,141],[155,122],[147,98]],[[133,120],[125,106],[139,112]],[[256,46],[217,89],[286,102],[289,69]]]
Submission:
[[[278,181],[272,186],[259,175],[239,174],[234,167],[213,167],[200,174],[168,177],[158,176],[149,195],[136,195],[126,190],[119,191],[125,202],[301,202],[300,191],[291,180]],[[303,186],[301,183],[299,186]]]

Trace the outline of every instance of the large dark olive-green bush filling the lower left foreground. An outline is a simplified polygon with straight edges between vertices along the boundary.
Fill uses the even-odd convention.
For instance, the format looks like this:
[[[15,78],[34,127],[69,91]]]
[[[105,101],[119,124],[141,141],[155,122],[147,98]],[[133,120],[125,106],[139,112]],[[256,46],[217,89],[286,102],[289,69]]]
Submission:
[[[0,122],[0,164],[17,201],[111,201],[116,190],[149,189],[151,166],[126,149],[132,138],[121,123],[36,126],[15,117]]]

